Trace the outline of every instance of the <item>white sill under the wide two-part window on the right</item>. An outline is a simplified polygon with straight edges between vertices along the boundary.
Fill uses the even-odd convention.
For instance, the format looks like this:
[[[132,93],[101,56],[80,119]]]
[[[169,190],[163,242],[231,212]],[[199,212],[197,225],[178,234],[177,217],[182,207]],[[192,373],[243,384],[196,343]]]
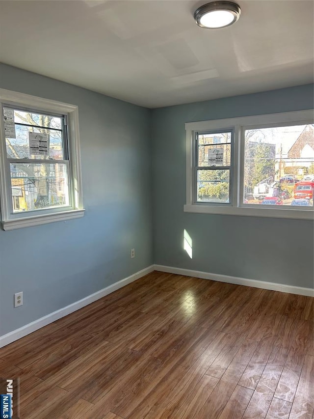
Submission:
[[[284,209],[284,208],[249,208],[217,205],[186,204],[184,212],[197,214],[237,215],[244,217],[290,218],[297,220],[314,220],[313,210]]]

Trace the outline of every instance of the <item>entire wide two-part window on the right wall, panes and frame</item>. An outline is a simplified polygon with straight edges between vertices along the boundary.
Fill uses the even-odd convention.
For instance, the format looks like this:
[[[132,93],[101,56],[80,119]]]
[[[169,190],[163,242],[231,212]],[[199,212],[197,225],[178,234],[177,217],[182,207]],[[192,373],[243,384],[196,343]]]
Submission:
[[[309,110],[186,123],[184,211],[313,219],[313,122]]]

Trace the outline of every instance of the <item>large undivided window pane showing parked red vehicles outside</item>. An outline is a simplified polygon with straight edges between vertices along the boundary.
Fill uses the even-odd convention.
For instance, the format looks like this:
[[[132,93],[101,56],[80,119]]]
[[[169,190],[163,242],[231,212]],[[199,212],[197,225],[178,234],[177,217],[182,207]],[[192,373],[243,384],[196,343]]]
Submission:
[[[312,181],[313,125],[245,131],[245,204],[305,206],[296,200],[307,199],[313,206]],[[302,185],[310,189],[301,192]]]

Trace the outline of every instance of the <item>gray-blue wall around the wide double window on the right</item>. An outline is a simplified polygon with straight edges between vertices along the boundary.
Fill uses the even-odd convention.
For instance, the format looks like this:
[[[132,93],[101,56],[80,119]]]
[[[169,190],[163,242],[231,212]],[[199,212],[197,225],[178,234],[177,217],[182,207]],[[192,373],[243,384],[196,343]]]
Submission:
[[[312,221],[183,213],[185,122],[311,109],[313,97],[303,85],[153,111],[156,264],[313,288]]]

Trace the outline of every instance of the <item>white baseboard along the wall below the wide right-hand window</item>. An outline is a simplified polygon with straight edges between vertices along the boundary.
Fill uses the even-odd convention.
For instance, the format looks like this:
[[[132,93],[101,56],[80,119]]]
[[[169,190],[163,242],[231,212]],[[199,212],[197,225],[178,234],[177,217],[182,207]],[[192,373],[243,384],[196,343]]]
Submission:
[[[276,282],[266,282],[255,279],[229,277],[228,275],[210,274],[209,272],[192,271],[190,269],[174,268],[172,266],[154,265],[154,268],[155,271],[168,272],[170,274],[178,274],[187,277],[196,277],[202,279],[211,279],[213,281],[228,282],[231,284],[252,286],[255,288],[270,289],[273,291],[288,292],[290,294],[307,295],[309,297],[314,297],[313,288],[278,284]]]

